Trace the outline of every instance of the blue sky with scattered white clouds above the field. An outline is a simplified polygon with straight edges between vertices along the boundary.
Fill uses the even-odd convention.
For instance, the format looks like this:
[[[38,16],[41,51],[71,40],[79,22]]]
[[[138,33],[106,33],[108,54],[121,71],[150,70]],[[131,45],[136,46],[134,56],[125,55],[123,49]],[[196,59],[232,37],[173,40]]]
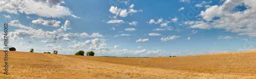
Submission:
[[[9,24],[9,47],[17,51],[187,56],[255,48],[252,0],[10,0],[0,6],[0,22]]]

